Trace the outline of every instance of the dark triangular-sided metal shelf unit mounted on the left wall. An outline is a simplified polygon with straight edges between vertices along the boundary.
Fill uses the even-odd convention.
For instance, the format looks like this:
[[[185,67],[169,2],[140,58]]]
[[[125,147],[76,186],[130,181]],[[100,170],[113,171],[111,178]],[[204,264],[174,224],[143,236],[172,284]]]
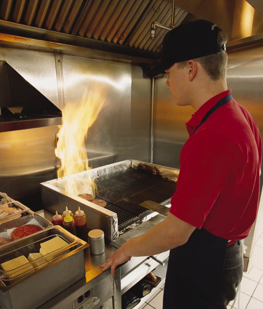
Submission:
[[[62,112],[6,61],[0,61],[0,132],[62,124]]]

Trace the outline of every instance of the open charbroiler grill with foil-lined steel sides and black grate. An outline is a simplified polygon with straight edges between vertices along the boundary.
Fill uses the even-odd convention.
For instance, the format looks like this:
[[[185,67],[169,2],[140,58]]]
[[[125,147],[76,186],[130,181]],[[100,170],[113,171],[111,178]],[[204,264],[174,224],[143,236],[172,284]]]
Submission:
[[[80,206],[87,216],[89,229],[103,230],[112,244],[119,238],[120,230],[152,213],[140,206],[141,203],[147,200],[162,205],[169,203],[178,175],[179,170],[175,168],[125,160],[44,182],[42,200],[45,209],[53,214],[56,210],[62,213],[66,206],[75,213]],[[67,191],[69,183],[74,184],[74,192]],[[91,183],[92,188],[97,188],[95,197],[106,201],[105,208],[78,197],[80,193],[91,193]],[[159,218],[158,222],[164,217],[159,215]],[[144,223],[149,226],[152,219],[140,226]]]

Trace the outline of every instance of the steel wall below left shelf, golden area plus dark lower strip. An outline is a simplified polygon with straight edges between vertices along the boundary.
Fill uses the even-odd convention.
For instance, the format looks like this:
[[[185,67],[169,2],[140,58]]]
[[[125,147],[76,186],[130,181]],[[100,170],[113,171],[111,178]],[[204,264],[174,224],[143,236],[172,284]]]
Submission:
[[[56,178],[58,126],[0,133],[0,192],[32,210],[42,208],[40,182]],[[53,178],[51,178],[53,177]]]

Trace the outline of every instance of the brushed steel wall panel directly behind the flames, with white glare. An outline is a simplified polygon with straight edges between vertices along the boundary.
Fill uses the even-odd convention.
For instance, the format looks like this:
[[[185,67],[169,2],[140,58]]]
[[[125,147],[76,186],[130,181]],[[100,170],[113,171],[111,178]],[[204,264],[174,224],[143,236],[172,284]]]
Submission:
[[[106,93],[108,105],[88,131],[87,150],[113,155],[114,162],[129,158],[131,64],[64,54],[63,80],[66,105],[80,101],[85,91]]]

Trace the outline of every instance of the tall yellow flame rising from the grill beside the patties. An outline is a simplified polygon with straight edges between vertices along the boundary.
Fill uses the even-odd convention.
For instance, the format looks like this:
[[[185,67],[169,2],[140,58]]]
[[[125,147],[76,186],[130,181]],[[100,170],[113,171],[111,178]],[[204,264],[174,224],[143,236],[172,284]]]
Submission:
[[[63,125],[58,132],[56,156],[61,161],[58,178],[86,171],[88,166],[85,141],[88,129],[97,120],[102,108],[106,105],[105,90],[85,91],[79,102],[68,103],[62,110]],[[67,179],[63,188],[69,193],[94,194],[94,180],[82,178]]]

